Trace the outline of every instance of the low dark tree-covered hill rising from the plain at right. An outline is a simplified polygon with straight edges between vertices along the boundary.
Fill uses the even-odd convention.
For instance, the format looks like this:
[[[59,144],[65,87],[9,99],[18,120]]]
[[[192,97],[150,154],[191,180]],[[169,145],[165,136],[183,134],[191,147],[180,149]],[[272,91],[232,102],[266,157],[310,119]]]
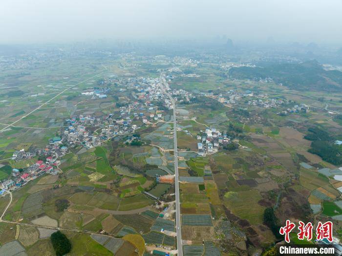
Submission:
[[[263,67],[233,67],[229,74],[237,79],[271,77],[276,83],[296,90],[341,91],[342,72],[324,70],[317,61],[275,63]]]

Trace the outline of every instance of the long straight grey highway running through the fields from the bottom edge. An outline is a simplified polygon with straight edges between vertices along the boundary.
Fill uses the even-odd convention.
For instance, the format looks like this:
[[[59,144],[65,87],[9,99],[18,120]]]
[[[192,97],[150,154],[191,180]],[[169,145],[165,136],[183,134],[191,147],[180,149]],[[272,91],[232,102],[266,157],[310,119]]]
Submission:
[[[161,77],[161,76],[160,76]],[[160,82],[162,83],[162,82]],[[179,199],[179,174],[178,174],[178,150],[177,150],[177,120],[176,120],[176,104],[170,93],[164,90],[164,93],[168,95],[173,105],[173,145],[174,145],[174,184],[175,184],[175,196],[176,196],[176,233],[177,233],[177,250],[178,256],[183,256],[183,246],[182,246],[182,232],[181,232],[181,222],[180,222],[180,199]]]

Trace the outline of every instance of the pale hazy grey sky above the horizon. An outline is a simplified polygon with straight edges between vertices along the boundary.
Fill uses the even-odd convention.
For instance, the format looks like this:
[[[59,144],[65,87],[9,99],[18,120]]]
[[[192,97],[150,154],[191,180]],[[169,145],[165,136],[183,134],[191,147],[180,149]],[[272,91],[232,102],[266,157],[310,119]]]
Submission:
[[[342,43],[342,0],[0,0],[0,43],[216,35]]]

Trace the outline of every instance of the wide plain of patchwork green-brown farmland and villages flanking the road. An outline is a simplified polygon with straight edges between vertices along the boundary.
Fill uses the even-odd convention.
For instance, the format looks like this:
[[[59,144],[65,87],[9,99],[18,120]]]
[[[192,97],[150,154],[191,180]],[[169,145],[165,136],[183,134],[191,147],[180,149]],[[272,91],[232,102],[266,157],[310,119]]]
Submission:
[[[287,219],[330,220],[342,240],[342,94],[301,88],[322,78],[317,83],[340,88],[340,66],[319,63],[336,53],[308,45],[263,55],[237,42],[230,51],[220,37],[215,48],[175,43],[165,52],[165,44],[158,54],[127,42],[1,53],[0,182],[15,185],[7,189],[0,255],[12,248],[54,256],[57,230],[71,242],[67,255],[171,252],[180,246],[177,214],[184,255],[262,255],[281,240],[272,224],[278,230]],[[292,82],[282,77],[288,73]],[[165,91],[175,100],[176,127]],[[3,193],[0,210],[10,200]]]

